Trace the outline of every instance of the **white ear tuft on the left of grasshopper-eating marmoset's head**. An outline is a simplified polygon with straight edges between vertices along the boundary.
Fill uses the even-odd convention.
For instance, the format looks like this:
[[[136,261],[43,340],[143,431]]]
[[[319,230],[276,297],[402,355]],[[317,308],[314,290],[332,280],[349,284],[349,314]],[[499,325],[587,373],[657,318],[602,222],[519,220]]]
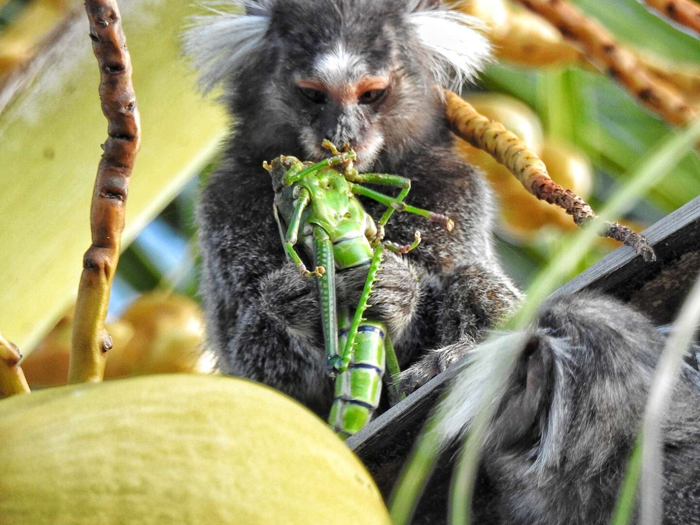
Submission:
[[[222,0],[200,5],[209,15],[190,19],[183,35],[186,55],[200,71],[200,89],[207,93],[240,71],[262,44],[275,0]],[[235,11],[222,10],[236,8]]]

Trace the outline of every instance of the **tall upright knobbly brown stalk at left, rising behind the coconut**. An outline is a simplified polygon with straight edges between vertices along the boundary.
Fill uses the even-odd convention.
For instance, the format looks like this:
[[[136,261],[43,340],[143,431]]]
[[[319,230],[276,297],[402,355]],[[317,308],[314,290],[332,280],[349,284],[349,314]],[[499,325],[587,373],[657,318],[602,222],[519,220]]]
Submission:
[[[131,59],[116,0],[86,0],[92,50],[100,71],[99,97],[108,120],[104,154],[97,168],[90,209],[92,246],[83,258],[69,383],[102,381],[106,351],[104,328],[114,271],[119,260],[129,177],[139,151],[141,125],[131,81]]]

